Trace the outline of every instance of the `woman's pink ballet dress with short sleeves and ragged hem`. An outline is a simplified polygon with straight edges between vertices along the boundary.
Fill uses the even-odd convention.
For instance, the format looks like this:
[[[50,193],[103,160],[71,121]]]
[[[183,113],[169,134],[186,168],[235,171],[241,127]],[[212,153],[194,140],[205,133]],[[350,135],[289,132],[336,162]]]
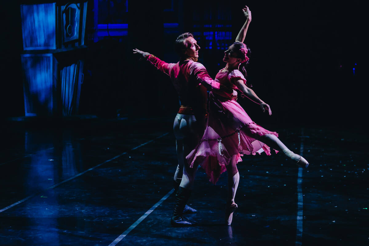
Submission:
[[[258,136],[273,134],[255,124],[245,110],[237,103],[237,80],[246,79],[239,70],[232,72],[219,72],[215,81],[227,89],[233,89],[233,93],[225,91],[212,91],[209,98],[209,116],[204,135],[194,150],[186,157],[190,167],[196,161],[203,167],[209,181],[217,183],[231,161],[233,155],[237,155],[237,163],[241,162],[241,156],[255,155],[265,152],[270,155],[270,148],[256,140]],[[231,90],[229,90],[231,91]]]

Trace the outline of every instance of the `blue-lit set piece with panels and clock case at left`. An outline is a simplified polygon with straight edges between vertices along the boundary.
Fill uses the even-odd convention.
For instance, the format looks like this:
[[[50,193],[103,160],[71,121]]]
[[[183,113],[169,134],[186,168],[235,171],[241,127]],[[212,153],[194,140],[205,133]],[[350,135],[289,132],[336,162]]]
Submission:
[[[25,116],[78,113],[87,1],[22,4]]]

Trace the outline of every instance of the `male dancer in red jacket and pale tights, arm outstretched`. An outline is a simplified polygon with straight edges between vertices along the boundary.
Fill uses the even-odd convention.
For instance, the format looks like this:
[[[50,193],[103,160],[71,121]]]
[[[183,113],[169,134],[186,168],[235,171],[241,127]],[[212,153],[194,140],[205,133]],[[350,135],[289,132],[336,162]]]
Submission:
[[[182,218],[183,212],[196,211],[186,203],[190,197],[192,187],[184,184],[193,184],[194,175],[183,171],[186,156],[194,149],[203,136],[206,121],[207,89],[217,90],[220,84],[211,79],[206,68],[197,62],[200,46],[189,32],[179,35],[175,41],[175,50],[180,56],[177,63],[166,63],[147,52],[134,49],[134,53],[144,56],[152,65],[170,76],[179,99],[180,108],[173,124],[176,136],[176,150],[178,166],[174,175],[176,190],[175,212],[170,223],[173,226],[192,224]],[[193,172],[193,169],[189,170]],[[185,179],[183,180],[182,179]]]

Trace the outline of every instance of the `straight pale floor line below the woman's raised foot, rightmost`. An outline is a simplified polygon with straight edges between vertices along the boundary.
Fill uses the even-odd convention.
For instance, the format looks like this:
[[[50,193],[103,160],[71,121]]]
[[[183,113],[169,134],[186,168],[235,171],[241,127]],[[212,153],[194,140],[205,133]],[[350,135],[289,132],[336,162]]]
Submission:
[[[304,128],[301,128],[301,136],[304,136]],[[304,138],[301,137],[300,155],[304,155]],[[302,171],[299,167],[299,174],[297,176],[297,226],[296,226],[296,246],[302,245],[302,222],[303,222],[303,195],[302,195]]]

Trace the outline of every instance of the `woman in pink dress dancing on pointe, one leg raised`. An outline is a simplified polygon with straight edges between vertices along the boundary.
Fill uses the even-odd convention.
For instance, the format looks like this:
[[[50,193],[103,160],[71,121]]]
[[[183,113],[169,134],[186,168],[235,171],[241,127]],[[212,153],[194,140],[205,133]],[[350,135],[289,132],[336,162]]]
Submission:
[[[233,89],[233,93],[221,91],[220,94],[219,91],[211,91],[204,135],[196,148],[186,157],[190,167],[200,164],[214,184],[221,173],[228,171],[228,198],[225,215],[228,225],[231,224],[233,212],[238,207],[234,201],[239,183],[236,163],[242,161],[241,155],[255,155],[256,152],[261,153],[262,151],[270,155],[270,146],[276,152],[282,151],[300,167],[309,165],[307,160],[289,150],[277,138],[276,132],[268,131],[255,124],[236,102],[237,91],[235,90],[238,89],[250,100],[259,104],[264,112],[272,115],[269,105],[256,96],[246,84],[245,65],[248,63],[247,54],[250,50],[243,41],[246,28],[251,21],[251,12],[247,6],[243,12],[246,18],[248,17],[248,21],[237,35],[236,42],[224,52],[223,61],[227,65],[215,77],[215,81],[221,84],[221,89]]]

